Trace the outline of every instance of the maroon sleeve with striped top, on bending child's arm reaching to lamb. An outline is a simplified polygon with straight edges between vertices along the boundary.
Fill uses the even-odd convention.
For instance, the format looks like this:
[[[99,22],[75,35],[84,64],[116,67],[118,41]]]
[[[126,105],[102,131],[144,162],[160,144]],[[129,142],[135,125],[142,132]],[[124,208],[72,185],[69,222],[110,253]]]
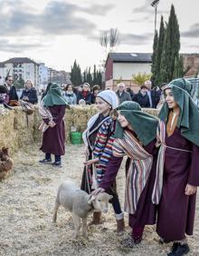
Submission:
[[[99,185],[100,188],[103,188],[104,190],[109,190],[111,184],[115,181],[123,156],[125,155],[121,146],[117,142],[117,139],[113,143],[112,153],[113,155],[109,159],[107,170],[104,173],[103,179]]]

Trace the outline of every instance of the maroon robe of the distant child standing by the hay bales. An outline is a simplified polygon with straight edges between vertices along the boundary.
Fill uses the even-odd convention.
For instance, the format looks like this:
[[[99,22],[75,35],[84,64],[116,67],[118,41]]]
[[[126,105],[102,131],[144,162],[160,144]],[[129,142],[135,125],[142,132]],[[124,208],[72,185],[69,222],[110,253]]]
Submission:
[[[43,144],[40,148],[43,153],[52,153],[54,155],[65,154],[65,129],[63,122],[65,108],[65,105],[49,107],[49,110],[52,113],[53,122],[56,123],[56,125],[53,128],[49,127],[43,133]],[[43,121],[49,123],[49,119],[44,119]]]

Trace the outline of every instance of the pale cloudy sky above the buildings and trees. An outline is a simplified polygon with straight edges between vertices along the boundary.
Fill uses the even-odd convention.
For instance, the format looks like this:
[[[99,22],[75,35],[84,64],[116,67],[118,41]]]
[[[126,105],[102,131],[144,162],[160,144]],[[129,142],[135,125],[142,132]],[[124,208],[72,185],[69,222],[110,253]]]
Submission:
[[[27,56],[49,67],[70,71],[100,64],[105,51],[100,34],[118,28],[117,52],[150,53],[154,35],[152,0],[0,0],[0,61]],[[199,53],[198,0],[160,0],[167,21],[170,6],[181,31],[181,52]]]

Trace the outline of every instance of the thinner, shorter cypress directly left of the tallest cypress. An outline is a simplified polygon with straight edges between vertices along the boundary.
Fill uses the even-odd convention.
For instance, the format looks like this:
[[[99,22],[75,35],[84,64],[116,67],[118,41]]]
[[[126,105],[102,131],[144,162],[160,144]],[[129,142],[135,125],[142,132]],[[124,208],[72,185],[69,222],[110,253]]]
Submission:
[[[165,34],[166,34],[166,28],[164,25],[163,16],[161,16],[159,37],[158,37],[157,48],[156,48],[156,77],[155,77],[155,81],[154,81],[154,84],[156,84],[156,86],[159,86],[161,83],[160,64],[161,64],[161,55],[163,52],[163,44],[164,44]]]

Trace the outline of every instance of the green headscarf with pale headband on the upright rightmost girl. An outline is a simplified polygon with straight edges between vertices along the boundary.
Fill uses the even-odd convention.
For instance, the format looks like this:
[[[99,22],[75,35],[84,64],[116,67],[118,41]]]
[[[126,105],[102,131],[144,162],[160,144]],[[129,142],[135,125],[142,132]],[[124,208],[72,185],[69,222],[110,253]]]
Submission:
[[[185,79],[183,79],[185,81]],[[188,141],[199,146],[199,111],[194,104],[191,96],[190,84],[181,84],[182,79],[176,79],[166,86],[166,89],[170,88],[175,98],[175,102],[180,108],[180,114],[177,122],[177,127],[180,129],[182,136]],[[166,90],[165,89],[165,90]],[[169,108],[167,103],[164,103],[160,113],[160,120],[167,122],[169,114]]]

